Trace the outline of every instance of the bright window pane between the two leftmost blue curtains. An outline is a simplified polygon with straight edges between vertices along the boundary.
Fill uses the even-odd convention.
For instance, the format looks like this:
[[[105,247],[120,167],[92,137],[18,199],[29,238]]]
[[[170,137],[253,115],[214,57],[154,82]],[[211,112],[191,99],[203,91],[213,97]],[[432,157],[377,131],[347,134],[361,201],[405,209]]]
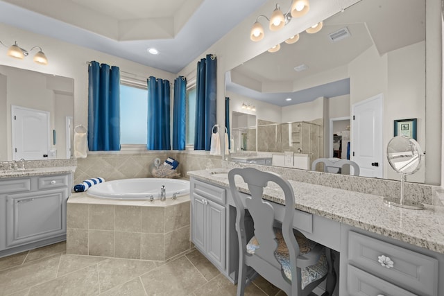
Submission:
[[[120,143],[146,145],[148,92],[120,85]]]

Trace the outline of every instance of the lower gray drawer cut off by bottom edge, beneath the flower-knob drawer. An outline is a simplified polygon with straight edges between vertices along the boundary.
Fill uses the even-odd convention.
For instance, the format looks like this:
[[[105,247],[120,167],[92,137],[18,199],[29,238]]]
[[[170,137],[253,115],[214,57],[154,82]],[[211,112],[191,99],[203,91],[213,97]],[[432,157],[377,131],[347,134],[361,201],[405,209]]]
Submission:
[[[369,273],[348,265],[347,272],[348,293],[353,296],[415,296],[403,288],[370,275]]]

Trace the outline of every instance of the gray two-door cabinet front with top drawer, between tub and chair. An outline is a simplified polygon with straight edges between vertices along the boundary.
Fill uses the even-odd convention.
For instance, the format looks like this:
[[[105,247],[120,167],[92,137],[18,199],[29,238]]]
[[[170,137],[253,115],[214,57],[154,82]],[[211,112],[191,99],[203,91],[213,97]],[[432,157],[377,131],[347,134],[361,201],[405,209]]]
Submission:
[[[225,269],[225,189],[191,180],[191,241]]]

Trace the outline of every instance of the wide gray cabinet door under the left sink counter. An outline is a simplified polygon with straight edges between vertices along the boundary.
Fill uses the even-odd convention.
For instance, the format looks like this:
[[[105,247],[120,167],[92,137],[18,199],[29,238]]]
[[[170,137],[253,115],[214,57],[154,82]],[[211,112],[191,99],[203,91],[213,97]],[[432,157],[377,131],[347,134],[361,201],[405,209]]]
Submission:
[[[65,234],[67,196],[67,189],[7,195],[6,245]]]

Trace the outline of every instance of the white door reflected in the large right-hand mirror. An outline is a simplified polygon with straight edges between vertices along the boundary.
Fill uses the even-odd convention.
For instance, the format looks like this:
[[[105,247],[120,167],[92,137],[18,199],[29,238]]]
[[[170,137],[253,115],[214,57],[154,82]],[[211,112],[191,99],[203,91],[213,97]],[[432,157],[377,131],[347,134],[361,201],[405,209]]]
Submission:
[[[352,105],[350,159],[360,176],[382,177],[382,107],[382,94]]]

